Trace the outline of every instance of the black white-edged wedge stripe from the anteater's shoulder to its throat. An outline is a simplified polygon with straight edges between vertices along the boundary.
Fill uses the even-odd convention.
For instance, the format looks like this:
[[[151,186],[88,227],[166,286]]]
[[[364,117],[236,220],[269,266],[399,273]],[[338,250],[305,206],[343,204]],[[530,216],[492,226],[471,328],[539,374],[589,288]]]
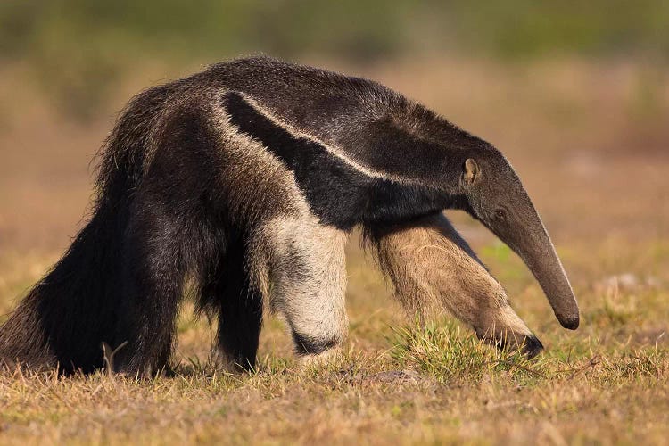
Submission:
[[[269,120],[239,93],[228,92],[222,101],[240,132],[293,170],[311,211],[326,225],[350,230],[359,223],[411,219],[450,207],[440,191],[368,177],[318,142],[294,136]]]

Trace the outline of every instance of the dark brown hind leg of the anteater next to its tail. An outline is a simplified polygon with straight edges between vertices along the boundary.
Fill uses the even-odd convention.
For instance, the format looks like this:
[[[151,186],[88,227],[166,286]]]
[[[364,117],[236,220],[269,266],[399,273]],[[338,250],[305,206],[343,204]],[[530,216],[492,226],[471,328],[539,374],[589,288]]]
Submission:
[[[150,376],[169,365],[186,271],[185,217],[159,194],[133,203],[122,247],[116,371]]]

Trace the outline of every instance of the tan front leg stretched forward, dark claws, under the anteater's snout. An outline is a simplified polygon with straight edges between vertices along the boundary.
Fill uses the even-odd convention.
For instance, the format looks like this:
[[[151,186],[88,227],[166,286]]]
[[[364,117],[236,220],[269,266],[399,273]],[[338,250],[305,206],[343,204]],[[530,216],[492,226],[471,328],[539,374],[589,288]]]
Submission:
[[[428,307],[449,310],[486,343],[522,348],[539,340],[508,303],[507,293],[442,213],[408,224],[367,228],[368,241],[399,301],[421,317]]]

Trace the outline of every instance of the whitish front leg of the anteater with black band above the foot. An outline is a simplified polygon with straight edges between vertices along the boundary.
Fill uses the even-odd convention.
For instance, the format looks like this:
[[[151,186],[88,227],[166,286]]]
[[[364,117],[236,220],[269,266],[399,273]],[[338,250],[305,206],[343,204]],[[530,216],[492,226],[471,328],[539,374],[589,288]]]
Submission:
[[[348,329],[346,233],[312,217],[276,219],[263,233],[266,260],[261,264],[268,267],[268,284],[261,288],[270,308],[287,321],[295,351],[305,361],[330,358]]]

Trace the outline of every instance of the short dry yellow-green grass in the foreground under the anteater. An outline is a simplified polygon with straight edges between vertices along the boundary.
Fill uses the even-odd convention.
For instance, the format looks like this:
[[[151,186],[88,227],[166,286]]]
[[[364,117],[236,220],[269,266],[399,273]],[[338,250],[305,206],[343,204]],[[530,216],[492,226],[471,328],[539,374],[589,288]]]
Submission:
[[[530,325],[548,350],[527,360],[482,345],[448,317],[411,324],[350,251],[351,339],[341,362],[299,368],[283,325],[268,317],[258,370],[223,373],[207,361],[206,320],[186,308],[175,376],[0,374],[0,442],[664,442],[664,288],[580,293],[582,328],[574,334],[530,285],[515,302],[535,314]]]

